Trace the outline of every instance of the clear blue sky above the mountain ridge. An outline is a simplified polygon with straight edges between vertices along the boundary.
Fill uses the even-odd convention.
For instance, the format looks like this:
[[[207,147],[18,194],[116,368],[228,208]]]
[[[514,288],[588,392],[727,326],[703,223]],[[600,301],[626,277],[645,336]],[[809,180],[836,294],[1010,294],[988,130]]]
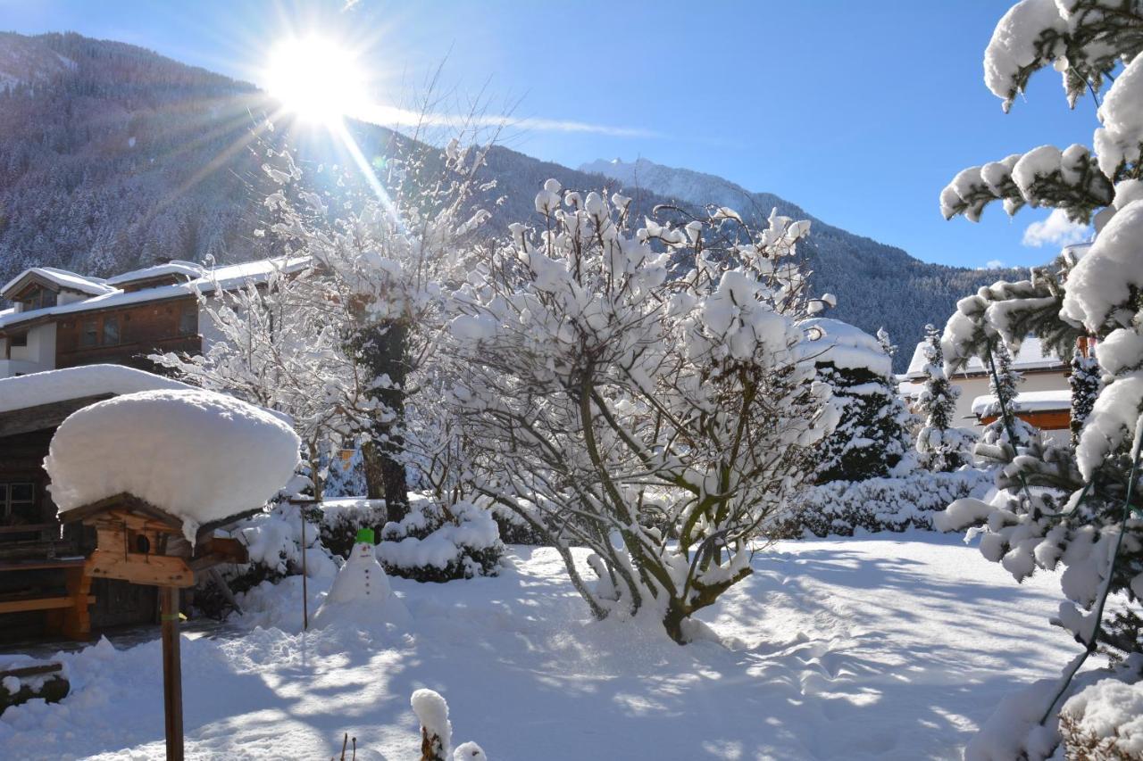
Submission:
[[[445,61],[447,107],[483,94],[531,120],[509,145],[577,166],[644,157],[768,191],[927,262],[1033,265],[1047,213],[944,222],[961,168],[1090,144],[1041,72],[1005,115],[981,58],[1007,0],[853,2],[142,2],[0,0],[0,30],[77,31],[264,83],[275,40],[319,32],[353,50],[381,104],[407,104]],[[447,61],[446,61],[447,59]],[[592,128],[569,131],[563,122]]]

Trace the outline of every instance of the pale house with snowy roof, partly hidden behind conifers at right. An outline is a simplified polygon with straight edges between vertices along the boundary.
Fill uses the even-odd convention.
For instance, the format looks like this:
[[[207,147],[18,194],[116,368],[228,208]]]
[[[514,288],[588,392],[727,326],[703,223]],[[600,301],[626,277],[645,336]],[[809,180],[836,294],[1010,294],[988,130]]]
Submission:
[[[925,386],[925,343],[917,344],[909,370],[897,376],[901,393],[916,400]],[[1013,368],[1024,376],[1020,384],[1018,416],[1052,438],[1069,435],[1071,420],[1071,387],[1068,385],[1070,365],[1046,353],[1034,336],[1029,336],[1013,358]],[[975,357],[961,373],[950,380],[960,388],[957,400],[958,424],[980,432],[994,417],[988,415],[993,398],[989,393],[990,374]]]

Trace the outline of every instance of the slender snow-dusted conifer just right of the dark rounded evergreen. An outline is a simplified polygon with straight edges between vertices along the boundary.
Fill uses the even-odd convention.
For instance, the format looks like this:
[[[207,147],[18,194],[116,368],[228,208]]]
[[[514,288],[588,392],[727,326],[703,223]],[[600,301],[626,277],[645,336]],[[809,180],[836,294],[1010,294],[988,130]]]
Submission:
[[[941,334],[932,325],[925,326],[925,388],[917,400],[917,411],[925,425],[917,434],[917,451],[921,464],[930,471],[948,473],[968,463],[972,434],[953,426],[953,412],[960,388],[944,374],[944,353]]]

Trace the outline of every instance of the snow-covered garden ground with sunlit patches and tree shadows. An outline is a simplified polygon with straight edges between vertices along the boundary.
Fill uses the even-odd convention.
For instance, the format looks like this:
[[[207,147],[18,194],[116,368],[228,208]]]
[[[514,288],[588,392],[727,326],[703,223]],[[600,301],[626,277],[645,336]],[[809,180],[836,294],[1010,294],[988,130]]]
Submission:
[[[732,649],[592,623],[553,551],[511,552],[515,568],[498,578],[392,579],[414,618],[406,633],[184,640],[187,756],[330,758],[349,732],[359,759],[417,758],[409,696],[429,687],[448,699],[455,742],[494,761],[959,758],[1006,692],[1077,652],[1046,623],[1057,579],[1016,585],[954,536],[759,553],[757,572],[704,616]],[[311,580],[314,603],[330,580]],[[294,601],[247,619],[288,628],[301,623]],[[61,655],[72,694],[0,716],[0,756],[161,756],[159,652],[102,642]]]

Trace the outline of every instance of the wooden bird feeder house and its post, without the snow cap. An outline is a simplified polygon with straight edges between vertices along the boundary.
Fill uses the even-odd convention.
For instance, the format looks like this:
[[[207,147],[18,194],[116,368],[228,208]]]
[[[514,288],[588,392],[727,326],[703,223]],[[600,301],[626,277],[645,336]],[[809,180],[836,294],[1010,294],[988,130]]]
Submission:
[[[246,547],[235,539],[213,536],[209,526],[199,530],[192,547],[183,535],[182,519],[130,494],[69,510],[64,516],[95,527],[96,548],[85,563],[85,576],[160,587],[167,759],[182,761],[178,590],[193,586],[195,572],[211,566],[249,562]]]

